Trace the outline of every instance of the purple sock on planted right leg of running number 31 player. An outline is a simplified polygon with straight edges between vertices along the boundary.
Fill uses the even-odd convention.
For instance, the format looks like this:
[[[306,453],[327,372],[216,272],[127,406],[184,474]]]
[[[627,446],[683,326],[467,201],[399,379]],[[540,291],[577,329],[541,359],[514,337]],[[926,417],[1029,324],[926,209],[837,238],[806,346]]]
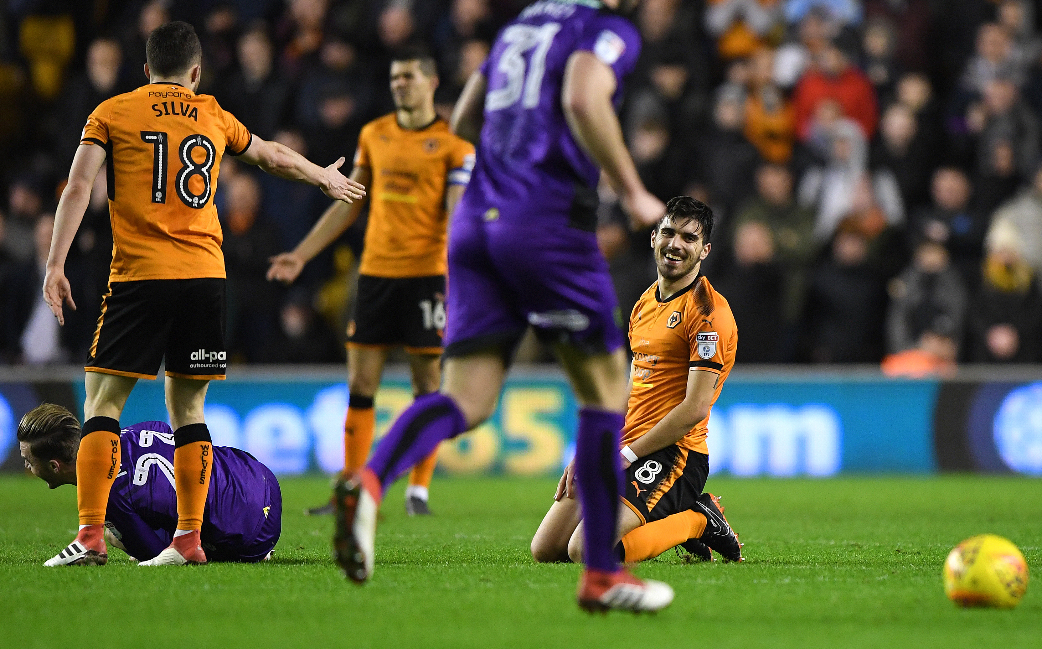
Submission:
[[[616,413],[582,408],[575,442],[575,480],[582,503],[586,565],[606,572],[618,567],[614,550],[622,495],[619,431],[624,421]]]

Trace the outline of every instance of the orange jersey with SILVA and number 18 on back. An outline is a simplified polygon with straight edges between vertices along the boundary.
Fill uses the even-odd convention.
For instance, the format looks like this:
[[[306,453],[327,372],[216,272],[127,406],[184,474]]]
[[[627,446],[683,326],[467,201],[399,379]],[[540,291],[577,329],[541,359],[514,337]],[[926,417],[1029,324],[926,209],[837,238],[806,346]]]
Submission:
[[[105,148],[109,281],[224,277],[214,193],[224,153],[250,131],[209,95],[149,83],[103,101],[80,144]]]

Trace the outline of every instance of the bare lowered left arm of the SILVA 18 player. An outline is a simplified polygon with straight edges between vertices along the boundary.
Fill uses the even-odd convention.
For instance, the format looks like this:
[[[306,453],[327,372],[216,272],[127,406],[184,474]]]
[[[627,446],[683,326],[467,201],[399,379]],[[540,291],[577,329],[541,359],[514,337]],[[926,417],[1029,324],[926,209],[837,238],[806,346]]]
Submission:
[[[94,178],[104,164],[104,147],[93,144],[79,145],[72,160],[72,168],[69,170],[69,182],[61,192],[58,208],[54,213],[54,234],[51,236],[51,252],[47,255],[44,300],[61,325],[65,324],[61,305],[67,303],[70,308],[76,310],[76,303],[72,301],[72,289],[65,276],[66,256],[83,220],[86,205],[91,202]]]

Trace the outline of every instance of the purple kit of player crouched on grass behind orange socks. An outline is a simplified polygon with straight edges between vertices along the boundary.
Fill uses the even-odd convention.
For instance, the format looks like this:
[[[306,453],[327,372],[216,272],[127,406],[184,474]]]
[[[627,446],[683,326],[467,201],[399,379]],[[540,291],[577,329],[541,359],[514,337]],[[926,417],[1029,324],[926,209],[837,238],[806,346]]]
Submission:
[[[105,523],[139,560],[170,545],[177,528],[174,431],[142,422],[120,433],[122,458]],[[282,494],[275,475],[246,451],[215,446],[201,539],[212,561],[259,561],[278,543]]]

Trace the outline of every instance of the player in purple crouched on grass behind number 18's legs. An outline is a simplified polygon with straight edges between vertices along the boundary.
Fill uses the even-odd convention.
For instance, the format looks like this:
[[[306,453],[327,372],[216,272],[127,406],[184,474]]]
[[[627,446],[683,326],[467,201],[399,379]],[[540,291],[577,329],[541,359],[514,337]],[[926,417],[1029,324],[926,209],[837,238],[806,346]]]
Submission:
[[[53,403],[33,408],[18,425],[26,468],[51,489],[75,484],[80,434],[79,421],[66,408]],[[177,528],[174,431],[164,422],[134,424],[120,434],[120,450],[105,513],[105,542],[144,561],[163,552]],[[278,480],[245,451],[215,446],[213,452],[201,531],[206,556],[212,561],[263,560],[282,530]]]

